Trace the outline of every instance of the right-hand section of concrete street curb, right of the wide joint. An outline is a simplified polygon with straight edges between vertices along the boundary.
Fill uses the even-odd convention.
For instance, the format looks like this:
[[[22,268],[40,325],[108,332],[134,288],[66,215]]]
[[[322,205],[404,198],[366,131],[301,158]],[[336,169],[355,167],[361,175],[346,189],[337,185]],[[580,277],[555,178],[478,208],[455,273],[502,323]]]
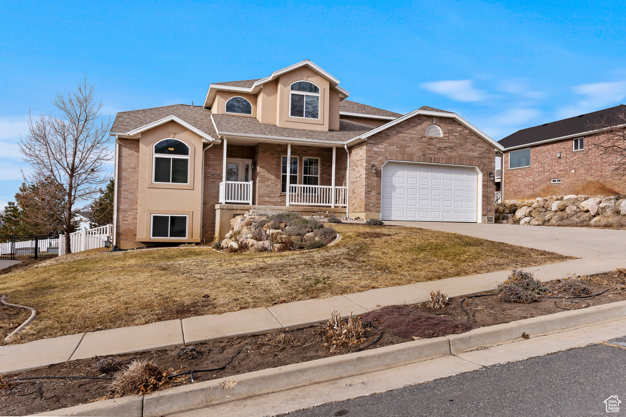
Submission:
[[[493,346],[521,338],[522,333],[541,336],[563,329],[626,317],[626,301],[602,304],[575,311],[546,314],[529,319],[473,329],[461,334],[448,334],[451,354],[463,353],[481,346]]]

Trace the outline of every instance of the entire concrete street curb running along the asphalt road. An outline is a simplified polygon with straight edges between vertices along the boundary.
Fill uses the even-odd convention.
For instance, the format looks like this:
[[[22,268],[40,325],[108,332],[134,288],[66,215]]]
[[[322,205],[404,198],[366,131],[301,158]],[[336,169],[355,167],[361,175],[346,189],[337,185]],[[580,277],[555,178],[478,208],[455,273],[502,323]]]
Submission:
[[[434,359],[449,354],[494,346],[520,338],[564,331],[626,317],[626,301],[588,307],[580,311],[563,311],[511,323],[496,324],[449,334],[439,338],[419,339],[382,348],[347,353],[331,358],[295,363],[279,368],[262,369],[194,384],[163,389],[139,396],[106,399],[96,403],[61,408],[39,416],[129,416],[155,417],[205,408],[236,399],[285,391],[313,383],[395,368],[405,364]],[[230,388],[228,388],[230,386]],[[125,402],[122,399],[128,398]],[[116,402],[116,404],[113,404]],[[142,404],[137,411],[138,404]]]

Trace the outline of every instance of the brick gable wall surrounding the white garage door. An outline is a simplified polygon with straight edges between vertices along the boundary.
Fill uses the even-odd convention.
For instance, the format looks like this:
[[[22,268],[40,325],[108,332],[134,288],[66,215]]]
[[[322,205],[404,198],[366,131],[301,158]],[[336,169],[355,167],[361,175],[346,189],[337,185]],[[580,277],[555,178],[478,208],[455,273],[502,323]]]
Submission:
[[[426,128],[433,123],[441,127],[443,138],[426,136]],[[489,173],[495,174],[495,149],[454,119],[414,116],[370,136],[351,151],[350,211],[380,213],[381,167],[393,159],[478,167],[483,173],[481,215],[493,214],[495,184]],[[372,174],[372,164],[376,164],[376,174]]]

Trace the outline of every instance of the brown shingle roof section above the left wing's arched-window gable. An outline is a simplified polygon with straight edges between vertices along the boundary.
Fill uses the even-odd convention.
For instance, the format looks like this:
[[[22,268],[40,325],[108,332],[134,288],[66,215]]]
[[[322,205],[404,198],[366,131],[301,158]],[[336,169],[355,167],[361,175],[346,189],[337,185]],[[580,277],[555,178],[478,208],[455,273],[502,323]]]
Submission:
[[[173,104],[172,106],[153,107],[151,109],[120,111],[115,116],[112,133],[128,133],[133,129],[141,128],[148,123],[167,118],[171,115],[191,124],[204,133],[217,138],[213,122],[211,121],[211,111],[201,106],[188,106],[187,104]]]

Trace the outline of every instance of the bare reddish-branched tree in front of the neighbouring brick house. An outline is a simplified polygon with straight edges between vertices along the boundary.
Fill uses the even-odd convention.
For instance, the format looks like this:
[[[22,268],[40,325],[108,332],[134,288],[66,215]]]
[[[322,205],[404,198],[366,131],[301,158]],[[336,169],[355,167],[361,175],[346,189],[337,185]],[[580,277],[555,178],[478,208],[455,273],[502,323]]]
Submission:
[[[626,177],[626,109],[588,123],[587,128],[594,138],[590,148],[598,149],[600,154],[612,160],[611,171],[615,176]]]

